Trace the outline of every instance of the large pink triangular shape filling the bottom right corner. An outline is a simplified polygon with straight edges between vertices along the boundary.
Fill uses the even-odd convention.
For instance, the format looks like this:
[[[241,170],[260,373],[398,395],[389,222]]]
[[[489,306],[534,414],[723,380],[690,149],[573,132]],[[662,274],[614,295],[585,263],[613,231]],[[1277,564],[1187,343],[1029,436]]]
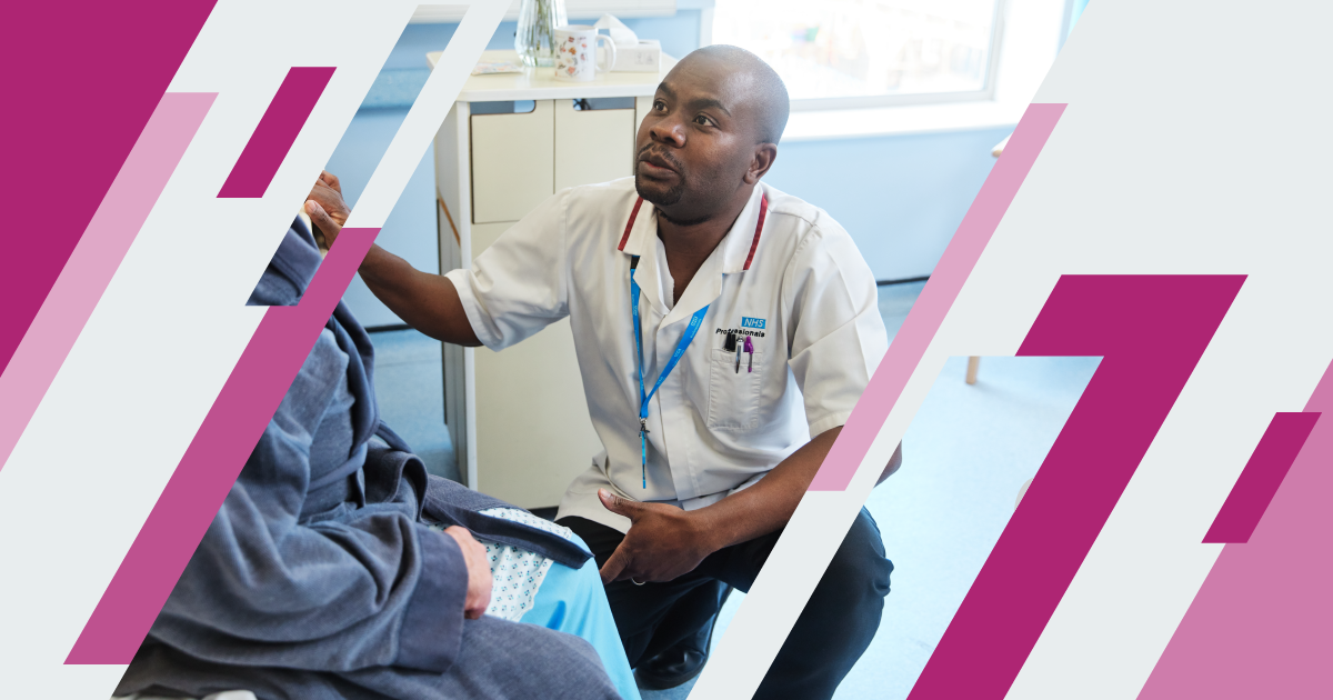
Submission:
[[[1305,412],[1333,413],[1333,364]],[[1318,420],[1249,541],[1222,548],[1138,700],[1329,696],[1330,465],[1333,421]]]

